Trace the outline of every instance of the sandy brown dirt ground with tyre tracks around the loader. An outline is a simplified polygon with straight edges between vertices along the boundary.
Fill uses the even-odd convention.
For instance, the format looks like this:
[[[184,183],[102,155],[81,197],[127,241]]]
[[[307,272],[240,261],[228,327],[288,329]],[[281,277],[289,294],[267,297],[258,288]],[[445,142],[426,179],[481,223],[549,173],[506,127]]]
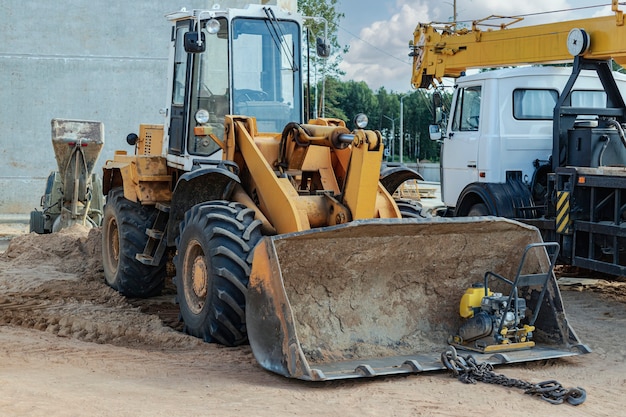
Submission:
[[[137,301],[106,287],[98,231],[40,236],[0,225],[0,243],[13,235],[0,246],[3,416],[616,416],[626,407],[624,283],[561,286],[569,320],[593,353],[496,368],[585,388],[587,401],[573,407],[445,372],[288,380],[257,365],[248,346],[180,333],[171,291]]]

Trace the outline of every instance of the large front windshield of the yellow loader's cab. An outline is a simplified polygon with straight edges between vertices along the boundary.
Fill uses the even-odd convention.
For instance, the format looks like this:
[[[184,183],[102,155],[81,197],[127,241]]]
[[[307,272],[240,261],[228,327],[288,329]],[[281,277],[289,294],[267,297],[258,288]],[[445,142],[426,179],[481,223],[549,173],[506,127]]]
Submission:
[[[296,22],[233,20],[233,109],[260,132],[302,121],[300,27]]]

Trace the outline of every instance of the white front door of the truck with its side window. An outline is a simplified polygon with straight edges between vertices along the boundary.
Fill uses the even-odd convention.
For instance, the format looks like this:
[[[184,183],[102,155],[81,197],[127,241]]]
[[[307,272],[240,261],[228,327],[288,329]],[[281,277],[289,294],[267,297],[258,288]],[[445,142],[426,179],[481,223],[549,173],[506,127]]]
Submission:
[[[458,88],[441,156],[442,198],[450,207],[466,185],[478,181],[480,113],[481,86]]]

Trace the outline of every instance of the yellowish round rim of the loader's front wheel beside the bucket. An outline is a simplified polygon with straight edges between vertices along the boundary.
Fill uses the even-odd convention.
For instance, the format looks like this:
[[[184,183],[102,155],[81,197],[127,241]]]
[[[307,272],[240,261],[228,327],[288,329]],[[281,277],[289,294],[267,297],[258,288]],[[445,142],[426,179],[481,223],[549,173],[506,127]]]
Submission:
[[[187,306],[193,314],[200,314],[206,303],[209,275],[202,245],[192,240],[187,245],[183,264],[184,292]]]

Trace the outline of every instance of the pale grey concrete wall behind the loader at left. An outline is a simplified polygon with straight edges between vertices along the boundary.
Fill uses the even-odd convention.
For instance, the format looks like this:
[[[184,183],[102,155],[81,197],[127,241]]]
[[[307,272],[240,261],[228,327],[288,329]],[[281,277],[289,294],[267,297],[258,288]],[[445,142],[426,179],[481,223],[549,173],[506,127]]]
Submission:
[[[128,149],[139,123],[163,123],[170,24],[197,0],[2,0],[0,219],[39,208],[56,170],[53,118],[102,121],[105,147]]]

